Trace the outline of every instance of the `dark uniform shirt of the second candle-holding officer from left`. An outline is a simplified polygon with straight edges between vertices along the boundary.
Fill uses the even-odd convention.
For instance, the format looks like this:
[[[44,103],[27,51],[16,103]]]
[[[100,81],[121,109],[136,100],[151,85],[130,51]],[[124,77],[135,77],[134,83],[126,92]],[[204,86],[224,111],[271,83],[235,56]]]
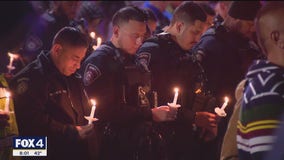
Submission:
[[[125,66],[133,57],[116,48],[111,42],[102,44],[82,64],[80,73],[90,97],[97,99],[96,114],[101,121],[132,124],[152,120],[148,108],[129,102]],[[128,96],[129,95],[129,96]]]

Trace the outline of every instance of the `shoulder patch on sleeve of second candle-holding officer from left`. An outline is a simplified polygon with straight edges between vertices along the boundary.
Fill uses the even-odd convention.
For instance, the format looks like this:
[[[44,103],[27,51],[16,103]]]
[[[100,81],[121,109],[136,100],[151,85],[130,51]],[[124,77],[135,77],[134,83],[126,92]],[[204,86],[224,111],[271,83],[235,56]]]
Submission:
[[[99,70],[99,68],[91,63],[87,64],[83,77],[84,85],[90,85],[99,76],[101,76],[101,71]]]

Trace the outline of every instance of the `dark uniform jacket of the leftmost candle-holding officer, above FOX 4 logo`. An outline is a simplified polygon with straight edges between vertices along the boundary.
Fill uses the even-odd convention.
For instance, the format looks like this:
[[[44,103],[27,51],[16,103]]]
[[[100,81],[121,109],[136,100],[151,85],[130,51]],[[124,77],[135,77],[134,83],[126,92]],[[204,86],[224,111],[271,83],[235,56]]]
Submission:
[[[48,136],[50,159],[86,158],[87,141],[79,139],[75,126],[87,124],[90,106],[78,74],[62,75],[42,52],[10,87],[20,135]]]

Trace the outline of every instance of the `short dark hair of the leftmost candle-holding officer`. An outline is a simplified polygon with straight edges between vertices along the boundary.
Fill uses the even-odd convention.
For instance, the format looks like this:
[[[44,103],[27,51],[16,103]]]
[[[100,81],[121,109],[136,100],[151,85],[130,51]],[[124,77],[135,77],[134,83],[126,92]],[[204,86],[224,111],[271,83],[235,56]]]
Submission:
[[[88,47],[89,41],[85,34],[74,27],[63,27],[54,36],[52,44]]]

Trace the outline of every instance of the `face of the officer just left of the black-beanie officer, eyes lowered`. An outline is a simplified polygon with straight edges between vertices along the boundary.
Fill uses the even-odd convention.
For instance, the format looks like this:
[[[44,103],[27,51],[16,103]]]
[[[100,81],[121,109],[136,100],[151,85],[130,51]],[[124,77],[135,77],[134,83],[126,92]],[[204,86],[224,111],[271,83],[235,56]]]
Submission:
[[[180,47],[184,50],[191,49],[199,41],[204,25],[200,20],[196,20],[193,24],[184,23],[176,35]]]

